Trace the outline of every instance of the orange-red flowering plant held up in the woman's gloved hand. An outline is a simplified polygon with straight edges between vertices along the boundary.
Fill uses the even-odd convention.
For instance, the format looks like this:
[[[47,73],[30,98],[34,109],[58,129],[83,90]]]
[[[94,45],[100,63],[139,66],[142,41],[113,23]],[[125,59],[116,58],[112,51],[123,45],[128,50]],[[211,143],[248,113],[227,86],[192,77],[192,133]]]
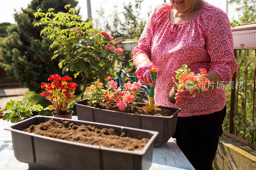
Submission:
[[[195,74],[191,72],[190,69],[187,69],[187,65],[183,65],[179,70],[175,71],[177,73],[176,78],[179,80],[178,83],[174,82],[177,86],[176,90],[190,90],[196,88],[198,92],[208,91],[206,84],[211,84],[207,76],[205,69],[199,69],[200,73]]]

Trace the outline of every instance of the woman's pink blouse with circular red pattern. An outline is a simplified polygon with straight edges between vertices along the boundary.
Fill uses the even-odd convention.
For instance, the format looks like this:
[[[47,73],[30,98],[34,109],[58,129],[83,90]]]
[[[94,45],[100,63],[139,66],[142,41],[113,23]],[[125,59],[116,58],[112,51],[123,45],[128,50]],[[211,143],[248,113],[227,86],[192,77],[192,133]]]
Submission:
[[[195,74],[205,68],[207,72],[217,72],[225,84],[231,80],[238,66],[228,17],[222,10],[206,2],[193,19],[174,24],[169,19],[171,7],[170,3],[160,4],[150,14],[139,45],[132,51],[133,59],[138,54],[146,54],[160,70],[155,86],[156,105],[179,107],[181,111],[178,116],[220,111],[226,105],[225,88],[200,92],[194,99],[181,105],[170,103],[167,96],[174,85],[174,71],[183,64],[187,64]]]

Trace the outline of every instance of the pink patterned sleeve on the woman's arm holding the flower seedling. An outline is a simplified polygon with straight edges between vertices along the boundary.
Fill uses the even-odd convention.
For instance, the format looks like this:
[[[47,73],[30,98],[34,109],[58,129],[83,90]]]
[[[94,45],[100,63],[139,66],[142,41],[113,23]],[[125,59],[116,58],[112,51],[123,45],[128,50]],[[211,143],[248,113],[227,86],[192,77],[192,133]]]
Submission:
[[[219,15],[206,15],[203,30],[206,38],[206,49],[211,57],[209,71],[217,72],[227,84],[238,69],[234,56],[231,26],[227,15],[223,11],[219,11]]]

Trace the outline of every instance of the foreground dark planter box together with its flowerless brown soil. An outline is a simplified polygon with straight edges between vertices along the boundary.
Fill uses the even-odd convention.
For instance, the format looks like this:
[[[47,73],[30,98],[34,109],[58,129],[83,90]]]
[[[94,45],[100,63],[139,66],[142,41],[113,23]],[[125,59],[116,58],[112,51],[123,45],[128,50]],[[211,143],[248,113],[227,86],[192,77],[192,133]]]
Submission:
[[[36,134],[36,131],[42,134],[50,131],[52,125],[51,134]],[[35,116],[5,129],[12,131],[16,159],[28,163],[29,169],[148,170],[152,162],[153,141],[157,136],[155,131],[63,118],[52,119],[48,116]],[[93,133],[86,135],[87,132]],[[106,141],[103,137],[108,134],[113,135]],[[61,135],[66,137],[62,138]],[[124,138],[124,145],[133,144],[135,149],[118,149],[122,142],[113,141],[117,136]],[[147,143],[141,149],[141,146],[131,142],[129,136]],[[88,143],[75,142],[80,137],[88,139],[84,140]],[[96,139],[98,142],[108,143],[108,146],[101,146],[97,142],[90,143]],[[138,147],[140,149],[136,150]]]

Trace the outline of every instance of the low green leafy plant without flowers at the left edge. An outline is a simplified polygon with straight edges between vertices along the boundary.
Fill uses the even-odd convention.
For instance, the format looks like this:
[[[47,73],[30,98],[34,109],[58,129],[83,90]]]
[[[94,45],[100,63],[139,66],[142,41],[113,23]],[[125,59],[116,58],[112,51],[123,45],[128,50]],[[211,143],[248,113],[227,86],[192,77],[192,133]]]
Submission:
[[[43,110],[44,107],[41,105],[31,106],[31,103],[32,102],[29,102],[28,100],[24,102],[17,100],[15,103],[15,100],[11,99],[7,102],[4,109],[0,108],[0,118],[16,123],[32,116],[39,115],[39,111]]]

